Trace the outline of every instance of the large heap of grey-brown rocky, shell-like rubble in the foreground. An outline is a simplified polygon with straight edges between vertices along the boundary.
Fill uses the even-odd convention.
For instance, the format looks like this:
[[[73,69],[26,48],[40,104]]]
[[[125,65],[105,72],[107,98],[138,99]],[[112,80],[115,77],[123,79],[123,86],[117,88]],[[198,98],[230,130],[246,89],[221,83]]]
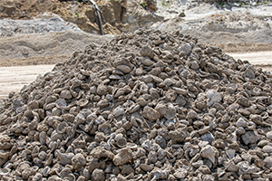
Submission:
[[[272,179],[272,75],[175,33],[74,52],[0,105],[2,180]]]

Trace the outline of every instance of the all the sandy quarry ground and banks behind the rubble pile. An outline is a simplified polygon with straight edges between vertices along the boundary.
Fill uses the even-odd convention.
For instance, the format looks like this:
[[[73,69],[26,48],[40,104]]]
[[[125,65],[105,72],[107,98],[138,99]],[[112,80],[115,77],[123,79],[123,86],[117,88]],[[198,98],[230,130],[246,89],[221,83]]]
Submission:
[[[9,1],[0,1],[0,6],[9,8],[6,2]],[[93,34],[98,32],[95,32],[95,23],[89,21],[90,11],[79,2],[48,1],[52,3],[52,8],[57,4],[57,8],[50,10],[50,5],[36,5],[36,12],[32,12],[31,8],[35,1],[20,2],[29,6],[25,7],[29,10],[29,17],[20,18],[21,9],[17,9],[12,17],[0,14],[0,99],[5,99],[10,91],[18,92],[34,81],[38,74],[51,71],[53,64],[64,62],[73,52],[84,50],[90,43],[109,42],[114,37],[110,34]],[[103,5],[103,2],[106,1],[100,3],[102,13],[106,14],[108,6],[113,5],[116,11],[108,16],[116,19],[120,15],[117,7],[123,5],[115,1],[107,1],[110,4]],[[106,33],[112,33],[110,30],[113,29],[119,33],[121,30],[133,32],[139,26],[165,32],[179,30],[180,33],[197,37],[201,43],[218,46],[236,59],[248,60],[272,71],[272,3],[256,6],[234,4],[229,9],[228,6],[198,4],[191,0],[184,1],[184,5],[178,0],[172,1],[173,5],[163,5],[162,2],[157,1],[156,14],[145,11],[137,3],[126,5],[127,11],[119,25],[114,23],[114,18],[105,16],[108,19],[105,18],[107,22],[104,24],[111,27],[105,27]],[[182,12],[186,15],[180,16]],[[131,14],[135,16],[134,24],[128,24],[129,20],[132,21],[128,18]],[[114,27],[110,24],[112,22]],[[93,30],[86,31],[89,29]]]

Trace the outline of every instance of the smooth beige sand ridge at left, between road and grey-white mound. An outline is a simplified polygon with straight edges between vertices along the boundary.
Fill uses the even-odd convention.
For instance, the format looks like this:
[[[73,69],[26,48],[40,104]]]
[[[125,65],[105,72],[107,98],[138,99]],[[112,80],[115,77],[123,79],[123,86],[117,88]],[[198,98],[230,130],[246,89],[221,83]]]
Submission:
[[[102,44],[111,39],[111,35],[73,31],[5,37],[0,42],[0,60],[70,55],[83,51],[90,43]]]

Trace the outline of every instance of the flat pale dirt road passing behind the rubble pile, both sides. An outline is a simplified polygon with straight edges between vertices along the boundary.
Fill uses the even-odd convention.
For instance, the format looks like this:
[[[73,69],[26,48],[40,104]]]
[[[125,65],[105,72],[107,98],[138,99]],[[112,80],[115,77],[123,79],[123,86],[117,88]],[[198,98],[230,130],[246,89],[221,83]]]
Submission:
[[[272,71],[272,52],[228,53],[235,59],[249,61]],[[24,85],[34,81],[36,77],[51,71],[54,65],[0,67],[0,100],[5,99],[10,91],[19,92]]]

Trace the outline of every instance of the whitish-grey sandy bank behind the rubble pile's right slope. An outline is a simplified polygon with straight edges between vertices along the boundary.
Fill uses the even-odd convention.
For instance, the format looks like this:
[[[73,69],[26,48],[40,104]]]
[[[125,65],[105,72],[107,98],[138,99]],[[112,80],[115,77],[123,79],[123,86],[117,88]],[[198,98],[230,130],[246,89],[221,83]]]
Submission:
[[[165,32],[179,30],[198,38],[200,43],[219,46],[224,52],[272,51],[271,4],[187,7],[182,3],[160,5],[156,14],[163,15],[164,21],[152,24],[151,28]],[[185,16],[180,16],[182,12]]]

